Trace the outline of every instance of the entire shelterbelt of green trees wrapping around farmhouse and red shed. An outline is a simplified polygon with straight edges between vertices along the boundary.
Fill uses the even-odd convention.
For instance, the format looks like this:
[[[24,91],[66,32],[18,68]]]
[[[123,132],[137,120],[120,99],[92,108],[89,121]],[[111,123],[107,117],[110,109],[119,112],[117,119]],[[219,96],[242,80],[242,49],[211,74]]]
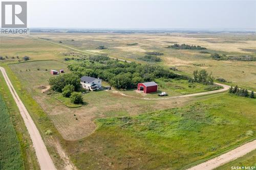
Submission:
[[[100,78],[117,89],[136,88],[138,83],[155,81],[158,78],[183,79],[190,83],[198,82],[209,85],[210,89],[217,88],[214,85],[214,77],[204,69],[195,70],[194,77],[190,78],[175,74],[171,68],[135,62],[127,63],[110,59],[107,56],[82,58],[78,62],[68,65],[68,68],[72,71],[71,73],[53,77],[49,80],[51,89],[61,92],[66,98],[72,98],[72,94],[78,95],[74,92],[81,91],[80,77],[82,76]],[[81,102],[77,101],[76,103]]]

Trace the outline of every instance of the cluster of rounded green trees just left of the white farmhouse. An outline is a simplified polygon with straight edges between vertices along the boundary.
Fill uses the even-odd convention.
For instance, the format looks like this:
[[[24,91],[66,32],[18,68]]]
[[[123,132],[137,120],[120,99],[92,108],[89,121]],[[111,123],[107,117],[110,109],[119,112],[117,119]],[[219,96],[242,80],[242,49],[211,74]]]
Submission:
[[[75,74],[69,73],[49,79],[49,85],[51,89],[57,92],[61,92],[62,96],[70,98],[70,101],[74,104],[83,103],[80,89],[80,77]]]

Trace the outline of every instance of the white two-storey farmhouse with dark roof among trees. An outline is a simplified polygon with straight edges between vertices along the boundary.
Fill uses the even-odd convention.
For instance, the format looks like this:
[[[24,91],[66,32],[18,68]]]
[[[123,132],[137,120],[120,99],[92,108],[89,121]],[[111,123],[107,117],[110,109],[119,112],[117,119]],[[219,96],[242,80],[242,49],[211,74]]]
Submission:
[[[88,90],[98,90],[101,88],[101,80],[89,76],[81,77],[81,85]]]

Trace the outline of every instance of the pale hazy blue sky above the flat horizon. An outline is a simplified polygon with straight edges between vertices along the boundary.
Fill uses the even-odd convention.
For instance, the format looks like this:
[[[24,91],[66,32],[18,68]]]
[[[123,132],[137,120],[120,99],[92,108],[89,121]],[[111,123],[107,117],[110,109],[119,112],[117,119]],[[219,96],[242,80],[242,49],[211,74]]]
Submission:
[[[254,1],[28,1],[30,28],[256,30]]]

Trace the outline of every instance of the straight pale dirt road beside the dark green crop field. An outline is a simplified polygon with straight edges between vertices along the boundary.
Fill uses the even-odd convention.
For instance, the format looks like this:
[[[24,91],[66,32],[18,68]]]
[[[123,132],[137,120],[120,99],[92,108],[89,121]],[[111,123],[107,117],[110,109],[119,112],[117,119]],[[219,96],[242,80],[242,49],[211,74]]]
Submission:
[[[41,170],[55,170],[55,165],[46,149],[46,145],[40,136],[38,129],[36,128],[31,116],[29,115],[26,107],[24,106],[23,102],[19,99],[18,94],[16,93],[15,89],[12,86],[10,79],[8,78],[6,71],[3,67],[0,67],[4,79],[8,85],[9,90],[16,102],[16,105],[19,109],[20,114],[22,115],[25,125],[28,129],[30,138],[33,142],[33,147],[35,149],[35,153],[40,165]]]

